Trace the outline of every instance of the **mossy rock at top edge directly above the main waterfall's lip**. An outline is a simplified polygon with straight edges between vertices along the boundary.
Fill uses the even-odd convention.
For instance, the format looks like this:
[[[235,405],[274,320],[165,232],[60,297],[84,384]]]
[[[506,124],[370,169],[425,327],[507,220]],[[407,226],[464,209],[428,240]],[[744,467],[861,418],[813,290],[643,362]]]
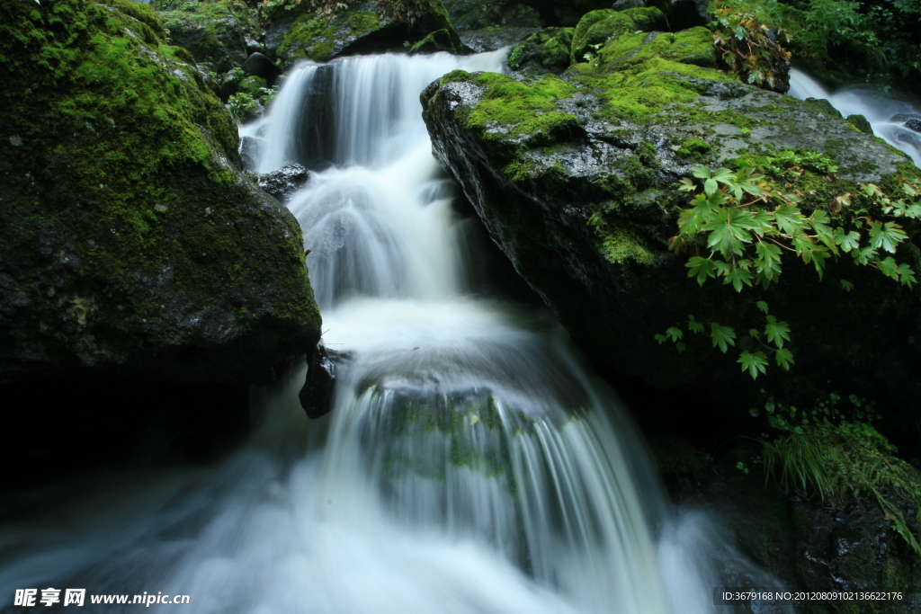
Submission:
[[[307,3],[304,3],[306,6]],[[344,6],[344,5],[343,5]],[[342,55],[408,51],[464,51],[441,0],[407,3],[412,13],[394,13],[396,5],[367,2],[328,14],[276,10],[268,44],[285,64],[326,62]]]

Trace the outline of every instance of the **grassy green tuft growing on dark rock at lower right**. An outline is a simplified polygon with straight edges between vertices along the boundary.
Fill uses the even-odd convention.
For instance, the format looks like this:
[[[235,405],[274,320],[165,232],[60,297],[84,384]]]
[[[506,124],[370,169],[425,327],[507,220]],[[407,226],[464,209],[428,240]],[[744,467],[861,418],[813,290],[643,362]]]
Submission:
[[[840,400],[833,393],[799,411],[769,398],[764,410],[775,436],[764,435],[765,474],[788,493],[839,506],[847,497],[875,499],[896,532],[921,554],[921,474],[893,456],[895,446],[872,425],[880,416],[871,402],[851,395],[849,407],[839,409]],[[894,503],[892,494],[913,502],[914,514]]]

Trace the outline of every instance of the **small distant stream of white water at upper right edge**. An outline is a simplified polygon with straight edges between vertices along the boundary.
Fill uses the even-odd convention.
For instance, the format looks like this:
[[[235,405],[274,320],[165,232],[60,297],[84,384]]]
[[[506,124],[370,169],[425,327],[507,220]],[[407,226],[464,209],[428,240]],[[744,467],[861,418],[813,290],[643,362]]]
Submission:
[[[904,151],[921,166],[921,133],[907,128],[904,123],[915,118],[921,125],[921,107],[910,102],[884,96],[867,87],[844,87],[831,93],[818,81],[796,68],[790,69],[789,95],[804,100],[825,98],[845,117],[863,115],[873,133],[889,145]]]

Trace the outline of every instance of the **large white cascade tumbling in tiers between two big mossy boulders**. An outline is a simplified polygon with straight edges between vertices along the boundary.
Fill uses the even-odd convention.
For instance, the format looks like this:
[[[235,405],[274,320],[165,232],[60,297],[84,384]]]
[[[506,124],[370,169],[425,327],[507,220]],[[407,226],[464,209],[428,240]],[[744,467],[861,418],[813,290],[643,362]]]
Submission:
[[[669,510],[565,333],[474,297],[418,97],[502,61],[382,55],[287,77],[247,130],[259,169],[314,168],[288,206],[324,342],[347,356],[332,413],[307,423],[301,371],[258,392],[262,428],[222,466],[128,476],[6,529],[0,595],[162,591],[197,613],[705,614],[730,577],[773,585],[703,516]]]

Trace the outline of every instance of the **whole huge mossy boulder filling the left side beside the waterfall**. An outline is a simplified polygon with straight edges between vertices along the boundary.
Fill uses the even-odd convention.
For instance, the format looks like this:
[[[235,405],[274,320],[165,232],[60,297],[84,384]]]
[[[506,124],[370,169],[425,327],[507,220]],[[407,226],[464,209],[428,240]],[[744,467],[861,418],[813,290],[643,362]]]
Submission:
[[[256,381],[318,339],[297,221],[191,63],[144,4],[0,5],[0,381]]]

